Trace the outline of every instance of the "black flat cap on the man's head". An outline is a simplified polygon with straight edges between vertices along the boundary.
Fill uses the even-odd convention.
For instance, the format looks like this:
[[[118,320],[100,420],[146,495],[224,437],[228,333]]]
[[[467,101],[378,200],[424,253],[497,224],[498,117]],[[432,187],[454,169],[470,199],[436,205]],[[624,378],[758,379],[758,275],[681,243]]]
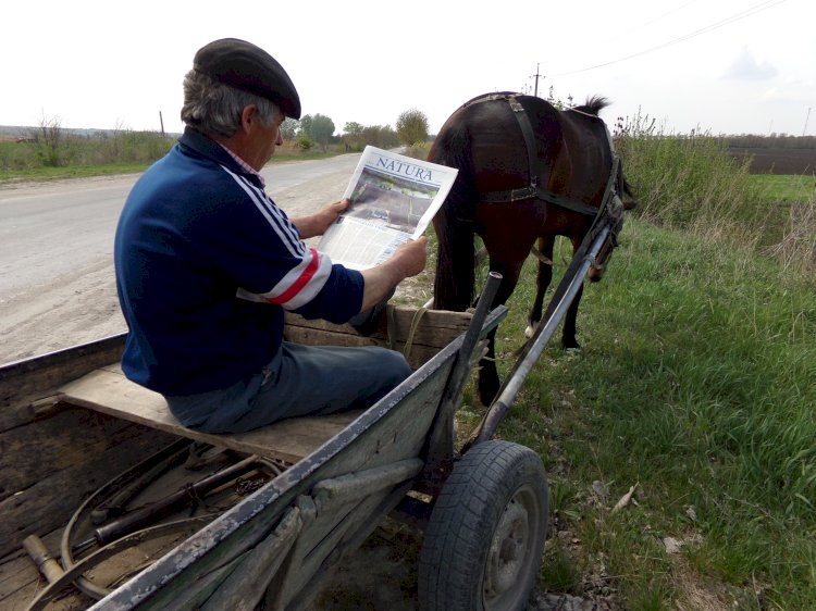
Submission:
[[[201,47],[193,67],[219,83],[275,102],[286,116],[300,119],[300,97],[283,66],[260,47],[222,38]]]

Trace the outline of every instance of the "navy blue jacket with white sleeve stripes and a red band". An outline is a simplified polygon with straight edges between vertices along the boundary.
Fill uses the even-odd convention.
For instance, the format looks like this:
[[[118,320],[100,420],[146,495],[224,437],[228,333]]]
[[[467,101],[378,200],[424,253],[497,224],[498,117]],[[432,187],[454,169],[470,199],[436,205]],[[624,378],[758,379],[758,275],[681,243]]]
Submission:
[[[190,128],[131,191],[114,263],[122,369],[170,396],[259,373],[280,349],[284,309],[344,323],[362,304],[362,275],[305,245],[258,177]]]

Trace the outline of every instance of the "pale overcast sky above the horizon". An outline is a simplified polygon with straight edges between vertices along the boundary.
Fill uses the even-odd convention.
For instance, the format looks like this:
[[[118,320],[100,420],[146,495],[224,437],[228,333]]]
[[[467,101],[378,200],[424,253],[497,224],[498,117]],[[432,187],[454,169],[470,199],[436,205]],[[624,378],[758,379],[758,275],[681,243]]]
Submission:
[[[244,38],[286,68],[305,114],[436,133],[472,97],[611,100],[665,133],[816,135],[814,0],[14,1],[0,12],[0,125],[181,132],[196,50]],[[809,116],[808,116],[809,111]]]

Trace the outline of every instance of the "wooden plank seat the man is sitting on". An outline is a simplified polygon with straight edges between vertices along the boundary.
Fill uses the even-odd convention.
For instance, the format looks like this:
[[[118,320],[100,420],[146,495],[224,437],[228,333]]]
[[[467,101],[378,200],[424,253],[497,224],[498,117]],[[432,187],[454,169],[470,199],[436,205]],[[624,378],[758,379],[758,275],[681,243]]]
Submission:
[[[248,433],[212,435],[183,426],[158,392],[127,379],[118,363],[98,369],[60,388],[69,403],[240,452],[295,463],[342,431],[362,410],[284,420]]]

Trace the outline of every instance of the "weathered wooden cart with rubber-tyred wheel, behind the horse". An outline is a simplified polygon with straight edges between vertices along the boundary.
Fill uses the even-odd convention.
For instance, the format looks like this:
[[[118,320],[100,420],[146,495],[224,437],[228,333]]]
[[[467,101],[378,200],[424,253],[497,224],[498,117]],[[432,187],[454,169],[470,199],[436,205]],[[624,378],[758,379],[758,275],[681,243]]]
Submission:
[[[424,532],[421,608],[523,609],[546,537],[541,459],[478,434],[467,451],[454,445],[480,341],[506,315],[484,307],[497,282],[473,313],[398,310],[390,336],[289,319],[298,341],[409,345],[416,371],[368,410],[240,435],[181,426],[122,375],[122,336],[0,369],[0,608],[306,609],[399,514]],[[201,448],[218,469],[178,484],[180,457]],[[176,488],[157,497],[157,481]],[[228,507],[208,513],[217,497]]]

